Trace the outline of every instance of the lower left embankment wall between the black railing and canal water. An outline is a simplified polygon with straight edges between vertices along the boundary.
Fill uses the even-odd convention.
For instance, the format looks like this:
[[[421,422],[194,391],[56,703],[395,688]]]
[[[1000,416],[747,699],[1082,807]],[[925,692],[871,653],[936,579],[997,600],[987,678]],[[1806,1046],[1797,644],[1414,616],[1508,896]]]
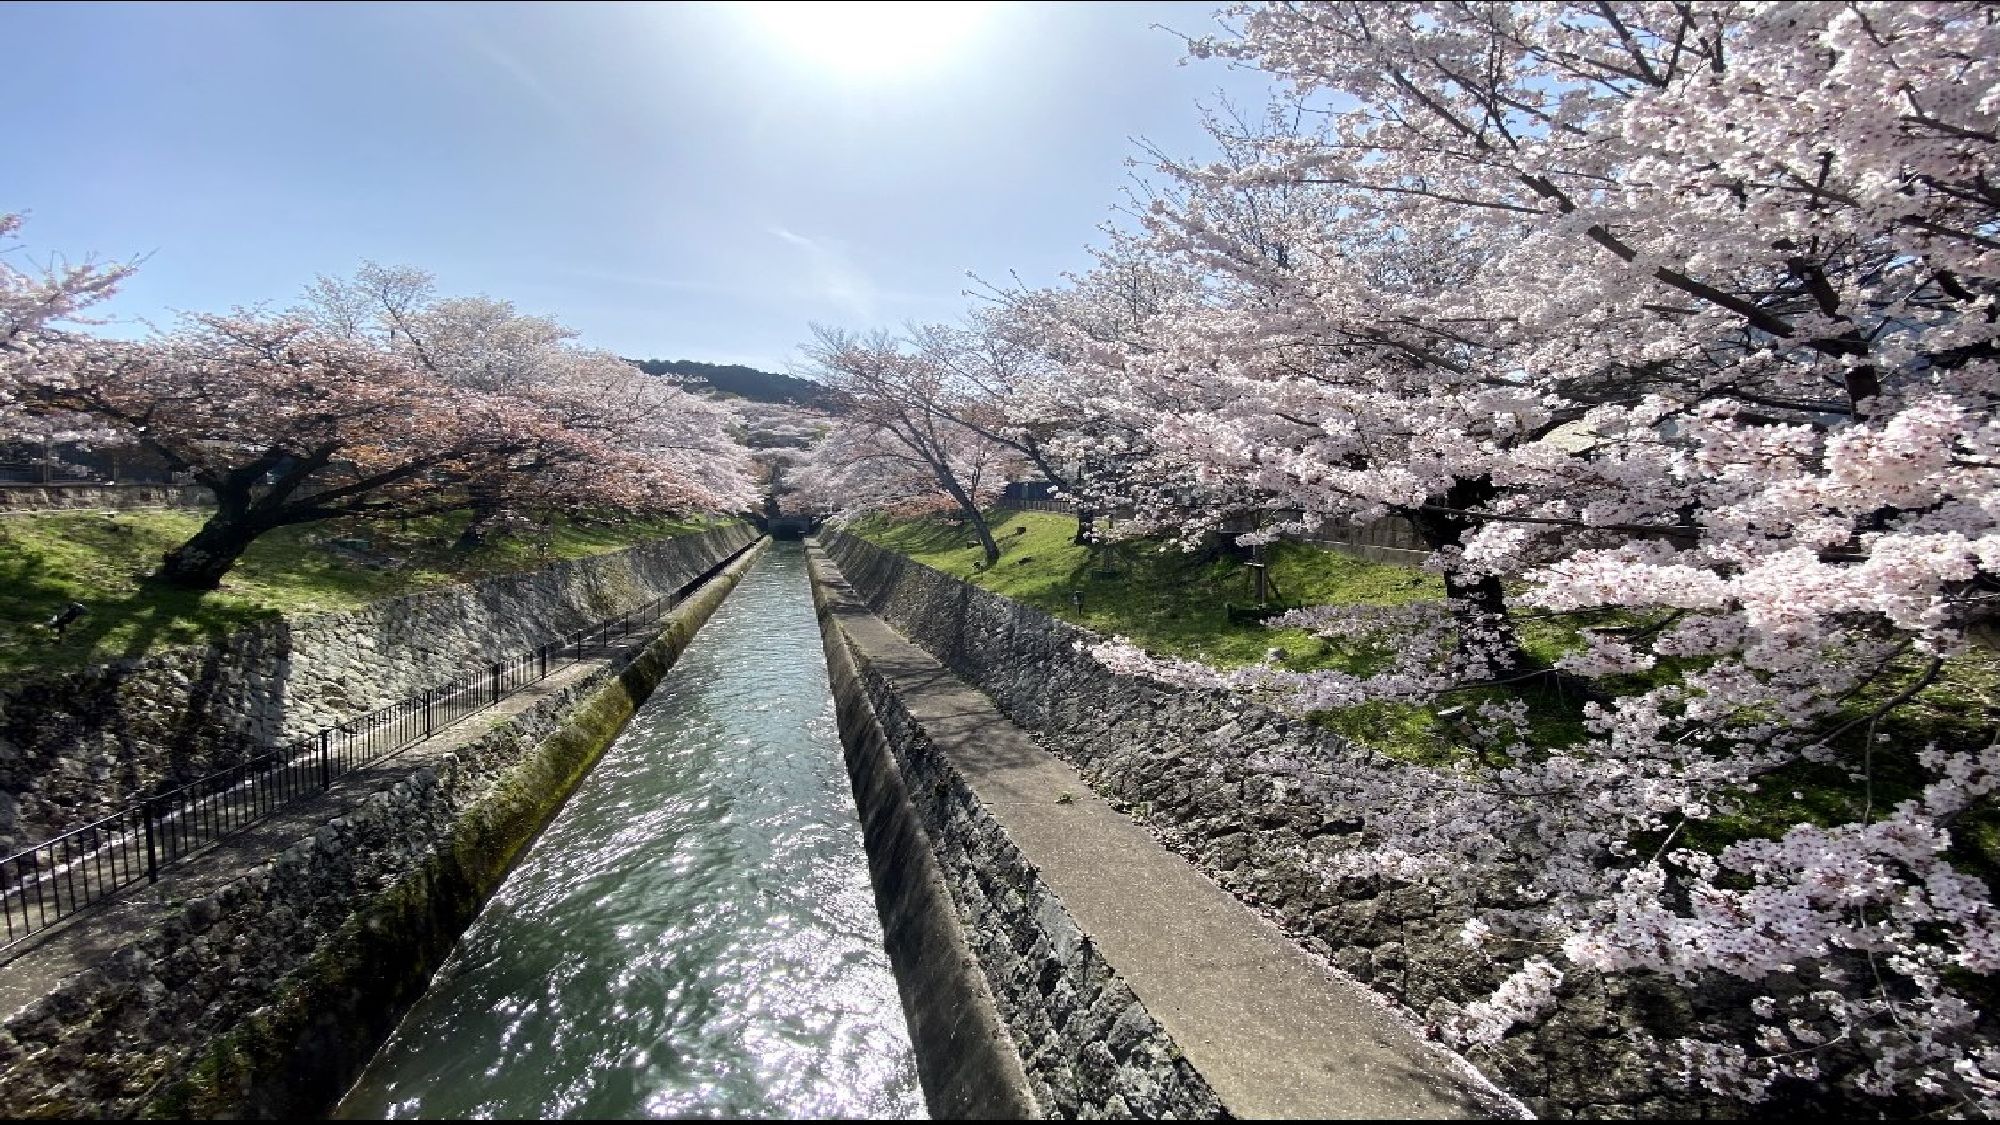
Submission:
[[[12,951],[0,1115],[322,1113],[758,548],[738,546],[650,641],[554,673]]]

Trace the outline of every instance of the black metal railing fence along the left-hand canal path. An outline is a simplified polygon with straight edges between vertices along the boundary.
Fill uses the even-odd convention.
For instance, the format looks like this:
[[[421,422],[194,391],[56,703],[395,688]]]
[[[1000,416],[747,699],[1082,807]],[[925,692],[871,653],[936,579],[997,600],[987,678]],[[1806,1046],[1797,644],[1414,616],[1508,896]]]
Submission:
[[[734,558],[738,552],[732,552]],[[128,805],[110,817],[0,859],[0,949],[100,903],[222,837],[324,793],[342,775],[428,739],[468,715],[540,683],[554,671],[608,653],[654,631],[680,601],[728,560],[672,595],[632,613],[576,631],[526,653],[494,661],[430,691],[412,695],[252,761]]]

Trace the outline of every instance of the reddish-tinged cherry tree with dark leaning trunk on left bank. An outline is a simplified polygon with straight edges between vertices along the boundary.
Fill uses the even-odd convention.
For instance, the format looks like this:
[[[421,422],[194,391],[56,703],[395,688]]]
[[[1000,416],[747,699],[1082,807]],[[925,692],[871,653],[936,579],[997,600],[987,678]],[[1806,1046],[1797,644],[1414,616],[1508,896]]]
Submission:
[[[214,492],[214,514],[156,575],[198,591],[272,528],[448,510],[522,450],[594,448],[546,410],[446,388],[286,316],[198,316],[160,340],[96,342],[30,394],[32,410],[88,416]]]

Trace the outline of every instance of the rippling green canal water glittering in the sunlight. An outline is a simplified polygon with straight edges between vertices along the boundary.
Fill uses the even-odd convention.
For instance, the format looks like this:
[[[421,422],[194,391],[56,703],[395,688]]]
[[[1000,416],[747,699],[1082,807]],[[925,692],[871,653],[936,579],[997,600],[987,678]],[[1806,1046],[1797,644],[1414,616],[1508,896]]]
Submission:
[[[798,544],[696,635],[334,1115],[924,1117]]]

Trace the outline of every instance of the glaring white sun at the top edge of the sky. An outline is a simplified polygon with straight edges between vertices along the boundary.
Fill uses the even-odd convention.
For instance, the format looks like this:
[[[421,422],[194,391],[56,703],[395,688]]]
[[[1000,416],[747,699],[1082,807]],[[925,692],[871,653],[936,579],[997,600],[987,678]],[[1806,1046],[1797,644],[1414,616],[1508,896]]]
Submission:
[[[848,78],[928,70],[970,40],[992,10],[978,2],[746,2],[760,34]]]

